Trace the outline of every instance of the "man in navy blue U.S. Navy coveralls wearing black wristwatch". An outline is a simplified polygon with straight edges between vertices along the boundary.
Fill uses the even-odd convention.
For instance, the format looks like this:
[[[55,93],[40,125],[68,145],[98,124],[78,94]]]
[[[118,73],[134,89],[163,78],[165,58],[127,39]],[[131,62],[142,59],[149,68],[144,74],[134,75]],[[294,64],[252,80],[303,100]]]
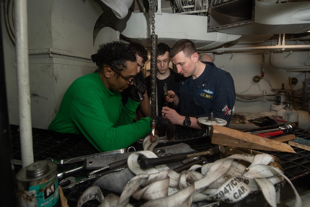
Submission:
[[[179,84],[179,94],[168,91],[170,98],[166,97],[167,102],[179,107],[180,114],[163,107],[162,116],[177,125],[177,132],[185,134],[179,139],[201,136],[203,132],[197,119],[209,117],[210,112],[215,118],[226,120],[228,126],[236,100],[231,74],[214,63],[199,61],[198,57],[194,43],[188,39],[179,40],[170,51],[172,63],[185,80]]]

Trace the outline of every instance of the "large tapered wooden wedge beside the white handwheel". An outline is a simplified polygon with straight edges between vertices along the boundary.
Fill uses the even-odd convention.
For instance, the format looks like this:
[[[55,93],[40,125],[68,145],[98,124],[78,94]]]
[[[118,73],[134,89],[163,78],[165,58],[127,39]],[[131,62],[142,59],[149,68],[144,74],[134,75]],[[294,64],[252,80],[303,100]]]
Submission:
[[[296,153],[288,144],[265,139],[255,134],[213,124],[210,130],[211,143],[230,147],[239,147],[266,151],[283,151]]]

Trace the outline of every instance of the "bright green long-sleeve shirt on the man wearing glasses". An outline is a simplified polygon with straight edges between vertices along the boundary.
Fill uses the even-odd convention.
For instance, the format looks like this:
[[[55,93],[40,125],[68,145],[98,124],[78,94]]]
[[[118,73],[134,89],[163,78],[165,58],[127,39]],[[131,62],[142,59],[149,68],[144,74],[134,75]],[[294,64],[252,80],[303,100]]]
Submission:
[[[120,92],[105,87],[98,73],[76,79],[64,94],[48,129],[83,134],[99,151],[130,146],[150,133],[150,117],[132,123],[139,102],[122,105]]]

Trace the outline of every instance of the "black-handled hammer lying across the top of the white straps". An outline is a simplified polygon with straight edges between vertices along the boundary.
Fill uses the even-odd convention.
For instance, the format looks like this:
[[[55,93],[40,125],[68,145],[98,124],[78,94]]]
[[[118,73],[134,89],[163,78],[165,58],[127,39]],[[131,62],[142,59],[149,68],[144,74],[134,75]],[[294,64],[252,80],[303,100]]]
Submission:
[[[222,145],[217,145],[214,148],[203,151],[203,152],[197,152],[192,154],[177,154],[177,155],[169,155],[164,157],[157,157],[157,158],[142,158],[140,160],[140,168],[141,169],[149,169],[151,167],[154,167],[156,165],[161,164],[169,164],[174,162],[179,162],[182,160],[185,160],[190,157],[198,157],[201,155],[215,155],[215,154],[223,154],[225,153],[225,148]]]

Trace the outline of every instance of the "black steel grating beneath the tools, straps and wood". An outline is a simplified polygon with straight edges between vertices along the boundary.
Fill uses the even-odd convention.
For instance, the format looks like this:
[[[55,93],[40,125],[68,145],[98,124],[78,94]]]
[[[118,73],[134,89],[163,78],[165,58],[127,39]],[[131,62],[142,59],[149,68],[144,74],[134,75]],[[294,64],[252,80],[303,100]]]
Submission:
[[[260,128],[260,130],[270,129],[272,127],[263,127],[263,128]],[[255,130],[252,130],[252,129],[244,130],[244,132],[247,132],[247,131],[255,131]],[[296,137],[310,140],[310,132],[300,129],[300,128],[298,128],[297,130],[293,132],[285,132],[283,135],[288,135],[288,134],[294,134]],[[283,135],[277,135],[277,136],[274,136],[273,138],[281,137]],[[18,126],[16,125],[11,125],[11,138],[12,138],[13,159],[21,160],[20,135],[19,135]],[[197,138],[192,138],[188,140],[160,142],[157,145],[157,147],[170,146],[170,145],[174,145],[178,143],[188,144],[189,146],[191,146],[192,149],[196,151],[205,151],[214,146],[213,144],[210,144],[210,137],[197,137]],[[136,150],[143,149],[142,142],[135,142],[132,146],[134,146]],[[261,152],[274,155],[281,160],[282,168],[284,169],[285,175],[291,181],[296,180],[296,182],[294,183],[295,187],[296,185],[307,185],[304,182],[298,182],[298,179],[307,178],[306,180],[308,180],[308,176],[310,176],[310,170],[309,170],[310,169],[310,151],[299,149],[297,147],[293,147],[293,149],[296,151],[295,154],[285,153],[285,152],[274,152],[274,151],[272,152],[261,151]],[[61,133],[55,133],[50,130],[37,129],[37,128],[33,128],[33,152],[34,152],[34,161],[45,160],[47,158],[54,158],[54,159],[61,160],[61,159],[66,159],[66,158],[72,158],[72,157],[78,157],[78,156],[98,153],[98,151],[82,135],[61,134]],[[206,158],[207,158],[207,162],[214,162],[215,159],[219,159],[219,157],[216,157],[216,156],[213,156],[213,157],[211,156],[211,157],[206,157]],[[59,165],[58,171],[73,169],[80,165],[81,165],[81,162]],[[14,167],[15,167],[15,173],[17,173],[21,169],[21,165],[15,164]],[[74,173],[74,175],[70,174],[69,176],[84,177],[87,175],[87,173],[88,172],[86,172],[86,170],[82,170],[77,173]],[[72,191],[64,192],[64,195],[66,196],[68,200],[68,205],[76,206],[79,197],[90,186],[91,186],[91,183],[87,182],[85,184],[78,185]],[[102,191],[104,195],[107,195],[108,193],[116,194],[114,192],[109,192],[104,189],[102,189]],[[130,203],[134,206],[139,206],[142,204],[141,201],[137,201],[137,200],[131,200]],[[84,205],[85,206],[97,206],[99,204],[97,201],[90,201]]]

